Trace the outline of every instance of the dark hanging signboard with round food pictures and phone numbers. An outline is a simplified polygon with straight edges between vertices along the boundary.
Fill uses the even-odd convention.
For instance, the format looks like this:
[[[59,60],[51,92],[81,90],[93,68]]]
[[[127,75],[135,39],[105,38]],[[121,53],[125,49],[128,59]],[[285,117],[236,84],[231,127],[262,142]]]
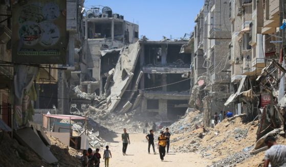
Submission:
[[[64,64],[67,1],[22,0],[12,10],[12,61]]]

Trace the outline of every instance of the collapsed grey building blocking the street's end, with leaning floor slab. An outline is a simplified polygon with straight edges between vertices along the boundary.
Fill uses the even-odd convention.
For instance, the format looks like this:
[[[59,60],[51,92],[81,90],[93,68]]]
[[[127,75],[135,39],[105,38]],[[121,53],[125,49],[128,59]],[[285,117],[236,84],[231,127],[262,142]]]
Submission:
[[[107,110],[141,112],[176,119],[188,108],[190,54],[188,41],[139,40],[121,51],[105,85]]]

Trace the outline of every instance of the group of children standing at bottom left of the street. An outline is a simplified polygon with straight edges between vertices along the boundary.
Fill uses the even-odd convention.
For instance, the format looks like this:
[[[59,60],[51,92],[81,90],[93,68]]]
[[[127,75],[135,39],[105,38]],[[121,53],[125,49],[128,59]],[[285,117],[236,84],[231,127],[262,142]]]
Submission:
[[[111,151],[109,150],[109,146],[105,147],[106,150],[103,152],[103,159],[105,163],[105,167],[109,167],[109,158],[112,158]],[[81,164],[83,167],[99,167],[101,155],[99,153],[99,149],[93,150],[91,148],[87,150],[83,150],[81,157]]]

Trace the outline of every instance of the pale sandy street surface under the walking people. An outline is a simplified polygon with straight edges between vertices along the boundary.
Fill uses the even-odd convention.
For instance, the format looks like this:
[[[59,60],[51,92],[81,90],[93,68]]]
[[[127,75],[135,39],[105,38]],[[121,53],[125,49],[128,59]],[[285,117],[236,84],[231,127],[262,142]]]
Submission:
[[[133,167],[133,166],[207,166],[211,164],[211,161],[202,159],[200,155],[195,153],[169,153],[166,154],[164,161],[160,160],[159,151],[155,146],[157,154],[148,154],[148,143],[145,140],[145,134],[129,134],[131,144],[127,147],[127,156],[122,155],[122,142],[121,134],[117,134],[117,137],[113,138],[113,142],[110,142],[109,149],[112,152],[112,158],[109,160],[109,166],[117,167]],[[171,150],[170,146],[170,150]],[[152,147],[150,148],[152,153]],[[103,159],[101,165],[104,166]]]

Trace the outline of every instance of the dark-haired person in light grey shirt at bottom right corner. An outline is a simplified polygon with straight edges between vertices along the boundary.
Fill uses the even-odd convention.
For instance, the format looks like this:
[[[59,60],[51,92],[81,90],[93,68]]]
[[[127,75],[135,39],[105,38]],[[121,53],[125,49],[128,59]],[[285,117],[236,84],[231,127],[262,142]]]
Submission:
[[[269,148],[265,152],[264,167],[268,167],[269,163],[273,167],[286,167],[286,146],[277,145],[273,136],[267,136],[264,142]]]

